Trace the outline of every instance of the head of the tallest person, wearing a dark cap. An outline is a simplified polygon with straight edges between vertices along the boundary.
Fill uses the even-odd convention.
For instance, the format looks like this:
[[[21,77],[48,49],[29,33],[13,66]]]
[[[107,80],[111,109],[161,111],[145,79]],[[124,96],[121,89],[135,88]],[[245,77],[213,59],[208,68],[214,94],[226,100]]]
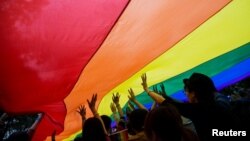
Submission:
[[[217,91],[211,78],[201,73],[193,73],[190,78],[183,79],[184,90],[191,103],[210,103],[214,101]]]

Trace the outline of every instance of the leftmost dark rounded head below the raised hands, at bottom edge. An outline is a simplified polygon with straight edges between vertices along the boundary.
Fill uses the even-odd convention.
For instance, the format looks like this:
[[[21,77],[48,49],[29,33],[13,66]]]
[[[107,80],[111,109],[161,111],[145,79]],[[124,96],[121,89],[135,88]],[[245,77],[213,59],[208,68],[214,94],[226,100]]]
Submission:
[[[100,119],[88,118],[83,125],[82,139],[84,141],[105,141],[106,135]]]

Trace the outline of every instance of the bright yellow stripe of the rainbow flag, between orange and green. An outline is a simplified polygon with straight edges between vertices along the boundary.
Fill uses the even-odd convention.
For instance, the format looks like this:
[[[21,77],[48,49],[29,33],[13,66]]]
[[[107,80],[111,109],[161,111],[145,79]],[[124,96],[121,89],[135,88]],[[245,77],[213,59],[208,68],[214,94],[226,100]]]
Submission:
[[[132,87],[136,94],[142,92],[140,85],[142,73],[147,73],[148,83],[151,86],[185,72],[249,42],[249,27],[250,1],[231,2],[173,48],[109,92],[99,104],[99,113],[111,115],[111,111],[107,108],[113,92],[120,92],[121,106],[128,100],[128,88]]]

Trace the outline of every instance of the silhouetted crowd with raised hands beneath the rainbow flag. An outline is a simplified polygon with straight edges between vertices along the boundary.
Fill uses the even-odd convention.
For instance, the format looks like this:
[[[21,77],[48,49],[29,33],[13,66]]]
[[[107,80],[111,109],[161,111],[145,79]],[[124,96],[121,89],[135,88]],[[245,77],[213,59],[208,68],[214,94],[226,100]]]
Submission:
[[[231,101],[219,93],[208,76],[193,73],[183,79],[188,102],[180,102],[161,89],[147,84],[147,75],[141,76],[143,90],[154,101],[150,109],[139,102],[132,88],[128,89],[128,105],[122,110],[121,95],[114,93],[110,109],[115,124],[96,109],[97,94],[87,100],[92,117],[86,118],[86,107],[77,112],[82,118],[82,133],[75,141],[211,141],[216,136],[242,136],[249,140],[250,98]],[[55,140],[55,134],[52,140]],[[221,139],[221,138],[220,138]],[[235,138],[236,139],[236,138]]]

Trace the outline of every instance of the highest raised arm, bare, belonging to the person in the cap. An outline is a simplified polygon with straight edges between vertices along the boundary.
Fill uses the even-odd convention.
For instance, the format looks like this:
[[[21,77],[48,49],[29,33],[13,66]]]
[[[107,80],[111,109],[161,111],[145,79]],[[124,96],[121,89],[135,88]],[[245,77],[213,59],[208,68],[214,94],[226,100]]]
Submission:
[[[148,95],[157,103],[157,104],[161,104],[165,98],[162,97],[161,95],[159,95],[158,93],[154,92],[154,91],[150,91],[148,88],[148,84],[147,84],[147,75],[146,74],[142,74],[141,76],[142,79],[142,86],[143,89],[148,93]]]

